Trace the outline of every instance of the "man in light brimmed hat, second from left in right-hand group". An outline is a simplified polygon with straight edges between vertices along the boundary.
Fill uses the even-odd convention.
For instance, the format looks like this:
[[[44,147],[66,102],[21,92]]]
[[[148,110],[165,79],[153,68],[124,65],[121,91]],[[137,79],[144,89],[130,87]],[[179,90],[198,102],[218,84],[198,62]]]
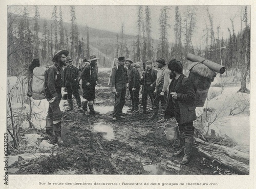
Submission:
[[[133,61],[131,59],[125,60],[125,66],[128,68],[128,88],[132,100],[131,113],[139,112],[139,92],[140,92],[140,74],[137,68],[133,66]]]

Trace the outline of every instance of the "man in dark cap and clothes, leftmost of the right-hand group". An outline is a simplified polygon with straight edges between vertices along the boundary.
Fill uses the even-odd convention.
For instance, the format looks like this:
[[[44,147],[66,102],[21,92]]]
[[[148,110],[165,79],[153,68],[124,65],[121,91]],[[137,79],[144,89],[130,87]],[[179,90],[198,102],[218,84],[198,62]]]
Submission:
[[[118,57],[118,61],[118,64],[113,67],[111,75],[111,84],[115,93],[113,120],[125,118],[122,116],[122,109],[125,103],[126,84],[128,83],[127,69],[124,67],[125,58]]]

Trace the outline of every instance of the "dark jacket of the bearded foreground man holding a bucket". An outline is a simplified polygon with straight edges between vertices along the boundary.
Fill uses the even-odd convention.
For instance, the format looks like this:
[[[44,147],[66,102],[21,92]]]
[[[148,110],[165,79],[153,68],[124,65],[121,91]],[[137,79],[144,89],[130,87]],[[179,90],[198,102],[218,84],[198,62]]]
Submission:
[[[174,102],[171,92],[177,93],[177,102],[180,109],[180,123],[187,123],[197,119],[196,116],[196,92],[193,83],[190,82],[189,78],[187,78],[183,73],[180,75],[177,81],[176,87],[173,89],[174,80],[170,82],[169,85],[169,93],[167,106],[164,113],[164,118],[172,118],[175,116],[174,114]],[[173,89],[173,90],[172,90]],[[178,121],[178,120],[177,120]]]

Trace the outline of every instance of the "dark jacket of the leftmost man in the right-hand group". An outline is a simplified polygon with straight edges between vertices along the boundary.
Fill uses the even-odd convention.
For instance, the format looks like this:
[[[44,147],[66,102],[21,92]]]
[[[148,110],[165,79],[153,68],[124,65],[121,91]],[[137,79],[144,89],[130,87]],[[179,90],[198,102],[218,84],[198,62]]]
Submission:
[[[126,85],[126,83],[128,83],[127,68],[119,64],[114,66],[111,75],[111,85],[116,87],[117,84]]]

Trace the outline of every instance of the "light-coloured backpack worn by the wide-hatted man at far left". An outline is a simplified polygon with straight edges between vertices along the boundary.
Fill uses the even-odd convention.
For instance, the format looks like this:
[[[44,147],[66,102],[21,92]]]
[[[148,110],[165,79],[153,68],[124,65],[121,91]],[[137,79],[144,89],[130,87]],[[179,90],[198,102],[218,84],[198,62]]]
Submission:
[[[57,67],[54,65],[40,66],[35,67],[33,70],[32,77],[32,98],[35,100],[42,100],[46,98],[45,91],[47,88],[47,78],[49,68],[54,67],[57,70]]]

